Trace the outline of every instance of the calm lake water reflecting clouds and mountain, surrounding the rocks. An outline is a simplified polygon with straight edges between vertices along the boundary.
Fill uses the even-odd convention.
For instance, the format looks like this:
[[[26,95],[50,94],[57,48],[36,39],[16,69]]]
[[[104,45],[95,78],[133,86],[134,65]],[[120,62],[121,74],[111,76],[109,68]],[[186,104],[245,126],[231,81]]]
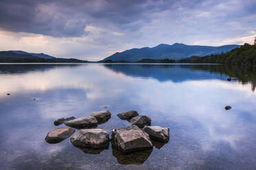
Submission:
[[[0,82],[1,169],[256,169],[256,69],[1,64]],[[45,142],[54,120],[105,108],[112,117],[98,127],[109,135],[129,125],[116,114],[137,110],[170,128],[169,143],[124,155],[111,144],[100,152],[82,151],[69,138]]]

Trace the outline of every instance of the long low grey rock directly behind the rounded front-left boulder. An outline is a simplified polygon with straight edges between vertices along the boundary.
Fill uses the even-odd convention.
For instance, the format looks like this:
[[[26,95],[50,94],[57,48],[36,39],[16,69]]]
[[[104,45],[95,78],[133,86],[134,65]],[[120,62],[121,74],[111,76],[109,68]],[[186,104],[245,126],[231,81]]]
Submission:
[[[87,116],[80,117],[78,119],[74,119],[71,121],[65,121],[65,125],[75,128],[89,128],[89,127],[97,127],[98,121],[95,117]]]

